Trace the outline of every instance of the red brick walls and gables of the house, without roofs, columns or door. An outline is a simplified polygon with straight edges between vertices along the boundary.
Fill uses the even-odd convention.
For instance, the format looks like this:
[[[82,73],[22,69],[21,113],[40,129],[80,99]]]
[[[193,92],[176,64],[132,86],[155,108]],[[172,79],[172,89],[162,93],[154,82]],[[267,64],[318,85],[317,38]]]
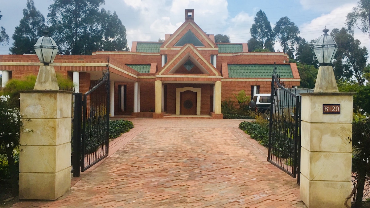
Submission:
[[[192,43],[181,47],[174,46],[188,31],[191,31],[204,47],[196,47]],[[158,42],[151,43],[158,44]],[[293,77],[285,79],[284,82],[289,86],[299,86],[300,83],[296,64],[289,63],[288,56],[282,52],[248,52],[246,43],[242,44],[243,52],[219,52],[214,36],[205,34],[194,22],[194,16],[186,16],[185,22],[174,34],[166,34],[159,51],[138,52],[137,45],[138,42],[133,42],[131,52],[100,51],[92,55],[57,55],[51,65],[54,65],[57,74],[64,77],[72,78],[73,72],[79,72],[80,93],[87,92],[91,83],[101,78],[101,71],[108,65],[111,82],[114,82],[114,114],[153,118],[176,114],[177,88],[200,88],[200,113],[211,115],[213,119],[222,119],[222,114],[213,112],[213,88],[217,81],[221,81],[221,101],[229,98],[236,101],[234,94],[240,90],[250,95],[253,86],[258,86],[259,93],[270,92],[271,79],[230,78],[228,64],[290,65]],[[213,66],[214,55],[217,57],[216,67]],[[162,56],[166,56],[166,63],[162,63]],[[194,63],[194,67],[189,71],[184,67],[184,63],[188,60]],[[139,73],[128,67],[128,64],[150,65],[150,71]],[[36,55],[0,55],[0,70],[11,71],[10,78],[13,79],[23,79],[30,74],[37,75],[40,65]],[[164,106],[162,106],[164,112],[161,113],[150,113],[155,111],[156,105],[155,81],[161,81],[164,89]],[[138,112],[147,113],[134,112],[135,82],[140,86]],[[121,92],[121,86],[125,89],[125,95]],[[121,109],[122,95],[125,96],[122,103],[125,109]],[[215,103],[215,105],[221,105],[221,103]]]

